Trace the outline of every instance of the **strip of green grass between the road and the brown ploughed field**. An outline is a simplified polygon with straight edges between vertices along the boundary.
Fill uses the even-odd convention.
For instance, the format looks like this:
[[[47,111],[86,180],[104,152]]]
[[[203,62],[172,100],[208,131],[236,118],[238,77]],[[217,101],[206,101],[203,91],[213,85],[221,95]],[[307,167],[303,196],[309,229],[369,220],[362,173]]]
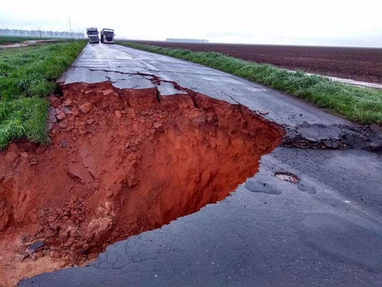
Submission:
[[[358,88],[328,77],[291,72],[269,64],[258,64],[215,52],[193,52],[152,45],[120,42],[135,49],[167,55],[219,69],[253,82],[301,97],[319,108],[358,123],[382,124],[382,91]]]

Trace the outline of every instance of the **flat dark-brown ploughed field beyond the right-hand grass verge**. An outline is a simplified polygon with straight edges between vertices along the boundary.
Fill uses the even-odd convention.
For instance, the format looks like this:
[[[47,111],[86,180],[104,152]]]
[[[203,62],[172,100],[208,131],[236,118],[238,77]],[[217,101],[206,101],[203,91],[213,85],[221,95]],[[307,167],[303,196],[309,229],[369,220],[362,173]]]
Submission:
[[[193,51],[216,51],[258,63],[370,83],[382,83],[382,48],[276,46],[134,41]]]

